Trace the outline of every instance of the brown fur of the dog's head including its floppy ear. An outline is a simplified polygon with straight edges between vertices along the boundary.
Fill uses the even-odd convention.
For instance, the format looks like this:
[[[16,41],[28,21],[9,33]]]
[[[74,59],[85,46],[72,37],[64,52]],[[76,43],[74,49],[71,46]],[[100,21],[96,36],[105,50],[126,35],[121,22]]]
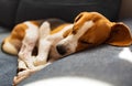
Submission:
[[[106,41],[108,44],[119,46],[132,44],[131,32],[127,25],[110,22],[97,12],[81,12],[75,19],[72,34],[76,34],[78,29],[80,29],[86,21],[90,20],[94,21],[95,25],[78,40],[77,51],[99,45]],[[118,33],[116,31],[118,31]]]

